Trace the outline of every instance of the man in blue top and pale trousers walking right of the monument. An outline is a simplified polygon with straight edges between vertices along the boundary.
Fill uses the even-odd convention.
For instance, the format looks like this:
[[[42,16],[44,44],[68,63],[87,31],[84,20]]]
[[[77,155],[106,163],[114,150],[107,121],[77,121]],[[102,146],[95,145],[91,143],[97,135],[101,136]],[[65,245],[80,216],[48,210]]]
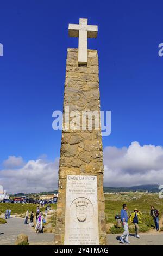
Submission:
[[[120,236],[120,240],[122,243],[126,242],[126,243],[130,243],[128,241],[128,236],[129,236],[129,231],[128,231],[128,214],[127,214],[127,205],[123,204],[123,209],[121,210],[121,221],[122,221],[122,225],[124,228],[124,232],[122,234],[122,236]]]

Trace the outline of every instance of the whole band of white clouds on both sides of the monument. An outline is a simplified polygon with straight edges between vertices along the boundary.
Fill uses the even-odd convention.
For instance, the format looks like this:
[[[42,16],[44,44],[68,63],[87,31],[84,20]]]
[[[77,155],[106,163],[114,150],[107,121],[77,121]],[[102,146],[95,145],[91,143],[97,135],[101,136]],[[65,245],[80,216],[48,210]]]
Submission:
[[[59,158],[46,154],[25,162],[9,156],[2,163],[0,184],[8,193],[37,193],[58,189]],[[131,187],[163,184],[163,147],[131,142],[129,147],[104,148],[104,186]]]

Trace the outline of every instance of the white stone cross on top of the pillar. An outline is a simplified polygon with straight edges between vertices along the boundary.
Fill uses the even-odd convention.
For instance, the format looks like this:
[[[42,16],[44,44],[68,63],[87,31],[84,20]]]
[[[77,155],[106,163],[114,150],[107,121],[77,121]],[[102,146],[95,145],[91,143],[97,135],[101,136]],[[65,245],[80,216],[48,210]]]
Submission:
[[[87,19],[80,18],[79,24],[69,24],[68,33],[79,38],[78,64],[87,64],[87,38],[97,37],[97,26],[87,25]]]

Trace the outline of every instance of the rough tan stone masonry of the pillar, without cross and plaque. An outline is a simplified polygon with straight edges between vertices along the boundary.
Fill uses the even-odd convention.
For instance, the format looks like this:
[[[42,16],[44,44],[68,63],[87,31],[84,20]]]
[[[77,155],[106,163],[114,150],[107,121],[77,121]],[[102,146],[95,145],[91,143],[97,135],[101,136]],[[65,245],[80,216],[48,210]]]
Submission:
[[[67,50],[66,81],[64,93],[64,114],[69,110],[100,111],[98,54],[96,50],[88,50],[87,66],[78,66],[78,49]],[[67,126],[72,122],[64,118],[60,165],[59,165],[59,195],[57,204],[57,224],[55,227],[55,244],[64,244],[65,228],[65,197],[66,175],[97,175],[98,186],[98,216],[99,216],[99,243],[106,243],[105,204],[103,194],[103,147],[101,129],[82,130],[79,119],[74,122],[77,126],[71,130]],[[94,118],[96,121],[98,117]],[[87,117],[89,121],[89,117]],[[68,128],[66,130],[66,128]]]

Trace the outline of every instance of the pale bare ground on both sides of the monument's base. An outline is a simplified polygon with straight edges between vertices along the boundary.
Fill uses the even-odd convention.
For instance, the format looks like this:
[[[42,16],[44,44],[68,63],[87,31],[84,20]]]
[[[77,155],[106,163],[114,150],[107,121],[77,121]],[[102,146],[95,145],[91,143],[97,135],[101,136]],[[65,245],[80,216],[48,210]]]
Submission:
[[[163,216],[160,218],[160,225],[162,225]],[[53,245],[54,234],[43,233],[36,234],[33,228],[24,224],[22,218],[7,219],[6,224],[0,224],[0,245],[14,245],[16,237],[20,233],[28,235],[30,245]],[[108,234],[108,245],[121,245],[119,235]],[[163,245],[163,232],[152,230],[149,233],[140,233],[140,239],[136,239],[133,234],[130,234],[129,241],[131,245]]]

